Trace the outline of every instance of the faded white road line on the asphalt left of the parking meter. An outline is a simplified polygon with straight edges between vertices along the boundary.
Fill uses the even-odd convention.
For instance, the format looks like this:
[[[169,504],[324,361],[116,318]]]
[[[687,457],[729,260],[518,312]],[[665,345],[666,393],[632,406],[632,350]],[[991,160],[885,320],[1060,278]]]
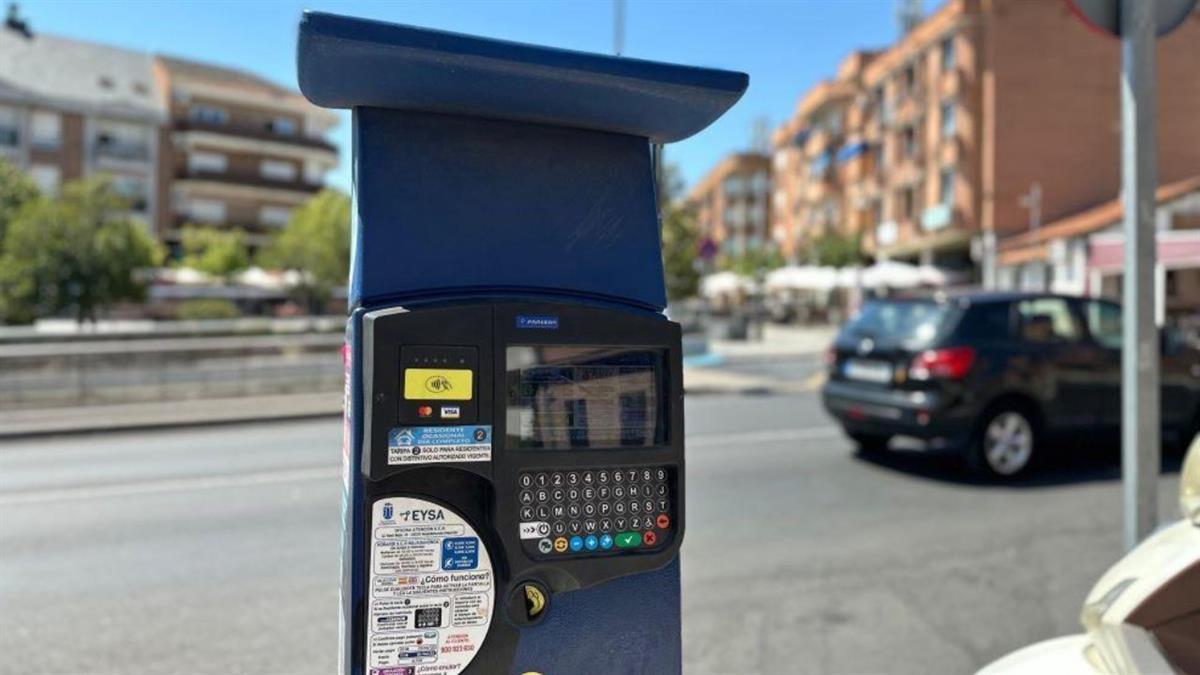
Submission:
[[[133,495],[155,495],[185,490],[218,490],[223,488],[248,488],[277,483],[298,483],[301,480],[324,480],[337,478],[342,471],[336,466],[293,468],[283,471],[256,471],[236,476],[197,476],[190,478],[166,478],[158,480],[138,480],[131,483],[113,483],[109,485],[79,485],[73,488],[54,488],[49,490],[30,490],[0,495],[0,507],[17,504],[37,504],[76,500],[97,500],[106,497],[128,497]]]

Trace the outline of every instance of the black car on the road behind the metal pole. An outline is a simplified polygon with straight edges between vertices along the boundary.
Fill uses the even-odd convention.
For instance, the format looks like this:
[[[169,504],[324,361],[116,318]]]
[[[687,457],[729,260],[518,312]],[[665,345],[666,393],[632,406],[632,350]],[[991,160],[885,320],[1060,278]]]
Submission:
[[[868,301],[829,350],[826,410],[864,450],[894,436],[964,453],[990,477],[1026,471],[1056,440],[1115,440],[1121,306],[972,292]],[[1164,333],[1163,438],[1200,431],[1200,352]]]

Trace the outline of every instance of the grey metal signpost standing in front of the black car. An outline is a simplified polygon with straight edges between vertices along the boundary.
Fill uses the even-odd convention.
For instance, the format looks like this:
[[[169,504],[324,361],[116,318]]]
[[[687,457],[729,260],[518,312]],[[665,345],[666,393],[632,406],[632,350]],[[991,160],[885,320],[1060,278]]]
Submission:
[[[1124,546],[1158,516],[1158,329],[1154,325],[1154,2],[1121,2],[1121,174],[1124,201],[1124,340],[1121,347],[1121,467]]]

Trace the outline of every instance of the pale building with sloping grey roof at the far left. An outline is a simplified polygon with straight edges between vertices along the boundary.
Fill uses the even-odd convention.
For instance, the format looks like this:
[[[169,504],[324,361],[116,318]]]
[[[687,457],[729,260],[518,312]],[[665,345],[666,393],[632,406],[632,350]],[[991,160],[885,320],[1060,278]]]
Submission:
[[[166,118],[150,55],[38,35],[16,16],[0,26],[0,159],[43,192],[107,173],[151,229]]]

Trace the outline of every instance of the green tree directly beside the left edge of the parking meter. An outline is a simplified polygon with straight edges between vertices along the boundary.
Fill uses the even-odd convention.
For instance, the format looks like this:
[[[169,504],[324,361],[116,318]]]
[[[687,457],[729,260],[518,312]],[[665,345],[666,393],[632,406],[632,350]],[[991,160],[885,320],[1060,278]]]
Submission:
[[[300,273],[298,299],[319,313],[332,293],[349,277],[350,199],[336,190],[322,190],[292,213],[287,227],[263,252],[263,267]]]

